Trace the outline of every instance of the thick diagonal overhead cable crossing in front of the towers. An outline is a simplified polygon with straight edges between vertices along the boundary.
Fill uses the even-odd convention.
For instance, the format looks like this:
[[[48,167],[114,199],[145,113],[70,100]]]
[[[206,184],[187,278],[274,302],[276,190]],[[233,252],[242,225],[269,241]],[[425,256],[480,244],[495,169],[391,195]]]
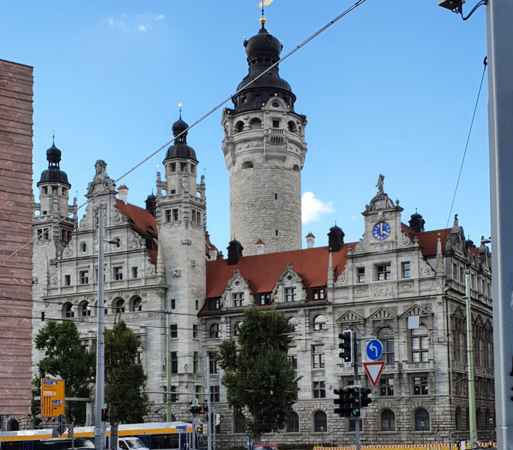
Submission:
[[[57,225],[59,225],[60,223],[64,222],[66,219],[68,219],[70,216],[72,216],[72,214],[74,214],[75,212],[77,212],[78,210],[82,209],[84,206],[86,206],[90,201],[94,200],[96,197],[98,197],[98,195],[101,195],[102,193],[104,193],[106,190],[108,190],[111,186],[115,185],[117,182],[121,181],[123,178],[125,178],[127,175],[129,175],[130,173],[132,173],[135,169],[139,168],[140,166],[142,166],[144,163],[146,163],[146,161],[148,161],[149,159],[153,158],[153,156],[155,156],[157,153],[161,152],[162,150],[164,150],[164,148],[166,148],[168,145],[172,144],[176,139],[180,138],[180,136],[182,136],[182,134],[184,133],[187,133],[191,128],[195,127],[196,125],[198,125],[200,122],[202,122],[203,120],[205,120],[209,115],[211,115],[212,113],[214,113],[215,111],[217,111],[219,108],[221,108],[223,105],[226,105],[231,99],[233,96],[237,95],[238,93],[240,93],[242,90],[246,89],[250,84],[254,83],[255,81],[257,81],[261,76],[265,75],[269,70],[273,69],[274,67],[276,67],[279,63],[285,61],[289,56],[291,56],[292,54],[294,54],[295,52],[297,52],[300,48],[302,48],[303,46],[305,46],[306,44],[308,44],[311,40],[313,40],[315,37],[317,37],[319,34],[321,34],[323,31],[325,31],[326,29],[328,29],[329,27],[331,27],[331,25],[333,25],[334,23],[338,22],[342,17],[344,17],[345,15],[349,14],[353,9],[356,9],[358,6],[360,6],[362,3],[364,3],[366,0],[358,0],[358,2],[356,2],[354,5],[350,6],[349,8],[347,8],[344,12],[342,12],[341,14],[339,14],[337,17],[335,17],[331,22],[327,23],[324,27],[320,28],[318,31],[316,31],[315,33],[313,33],[311,36],[309,36],[308,38],[306,38],[305,41],[303,41],[301,44],[299,44],[297,47],[294,47],[292,50],[290,50],[285,56],[283,56],[282,58],[280,58],[279,61],[275,62],[274,64],[272,64],[271,66],[269,66],[266,70],[264,70],[260,75],[258,76],[255,76],[254,79],[252,79],[249,83],[247,83],[245,86],[241,87],[239,90],[235,91],[233,94],[231,94],[229,97],[227,97],[226,99],[224,99],[222,102],[220,102],[218,105],[214,106],[210,111],[208,111],[207,113],[205,113],[204,115],[202,115],[200,117],[200,119],[196,120],[192,125],[189,125],[185,130],[183,130],[180,134],[174,136],[173,139],[170,139],[169,141],[167,141],[165,144],[161,145],[158,149],[156,149],[155,151],[153,151],[152,153],[150,153],[148,156],[146,156],[146,158],[144,158],[141,162],[137,163],[135,166],[133,166],[130,170],[126,171],[125,173],[123,173],[119,178],[115,179],[114,181],[112,181],[112,183],[110,183],[109,185],[105,186],[105,188],[98,192],[97,194],[95,194],[93,197],[91,197],[90,199],[86,200],[84,203],[82,203],[80,206],[77,206],[75,209],[73,209],[71,212],[68,213],[68,215],[64,218],[62,218],[60,221],[56,222],[55,224],[53,224],[52,226],[50,226],[48,228],[48,230],[51,230],[53,228],[55,228]],[[14,255],[16,255],[16,253],[18,253],[19,251],[23,250],[24,248],[28,247],[30,244],[34,243],[35,241],[37,240],[37,237],[32,239],[31,241],[27,242],[25,245],[23,245],[22,247],[18,248],[17,250],[15,250],[13,253],[11,253],[11,255],[9,255],[7,258],[5,258],[3,261],[0,262],[0,266],[3,265],[7,260],[9,260],[10,258],[12,258]]]

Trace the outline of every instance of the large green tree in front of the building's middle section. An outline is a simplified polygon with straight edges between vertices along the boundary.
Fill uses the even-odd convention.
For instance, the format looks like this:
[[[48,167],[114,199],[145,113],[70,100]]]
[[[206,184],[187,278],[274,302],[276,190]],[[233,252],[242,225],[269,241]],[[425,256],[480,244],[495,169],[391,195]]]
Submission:
[[[287,359],[292,331],[283,314],[248,308],[237,340],[219,347],[228,404],[235,412],[248,409],[246,433],[257,440],[284,427],[298,397],[298,378]]]

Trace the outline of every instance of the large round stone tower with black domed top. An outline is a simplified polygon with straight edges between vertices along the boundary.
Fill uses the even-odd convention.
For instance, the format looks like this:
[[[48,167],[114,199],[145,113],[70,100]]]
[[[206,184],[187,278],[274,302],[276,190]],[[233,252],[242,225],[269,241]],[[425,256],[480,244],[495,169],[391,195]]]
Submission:
[[[265,29],[244,41],[249,73],[225,108],[223,153],[230,172],[230,233],[244,255],[301,248],[301,169],[306,116],[294,112],[295,95],[280,78],[282,45]],[[253,81],[254,80],[254,81]]]

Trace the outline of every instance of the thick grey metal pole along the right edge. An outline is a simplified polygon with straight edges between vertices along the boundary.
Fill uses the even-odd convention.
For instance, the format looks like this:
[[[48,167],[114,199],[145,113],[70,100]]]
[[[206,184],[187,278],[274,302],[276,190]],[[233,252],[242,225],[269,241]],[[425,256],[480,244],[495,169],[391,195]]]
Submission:
[[[513,448],[513,2],[486,6],[497,448]]]

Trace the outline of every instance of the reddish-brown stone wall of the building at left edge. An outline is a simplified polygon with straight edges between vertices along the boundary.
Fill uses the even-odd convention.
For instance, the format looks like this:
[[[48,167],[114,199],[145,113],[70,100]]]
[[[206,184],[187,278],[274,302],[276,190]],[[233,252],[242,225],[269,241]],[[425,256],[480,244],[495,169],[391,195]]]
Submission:
[[[0,261],[32,239],[33,68],[0,60]],[[30,413],[32,246],[0,265],[0,414]]]

